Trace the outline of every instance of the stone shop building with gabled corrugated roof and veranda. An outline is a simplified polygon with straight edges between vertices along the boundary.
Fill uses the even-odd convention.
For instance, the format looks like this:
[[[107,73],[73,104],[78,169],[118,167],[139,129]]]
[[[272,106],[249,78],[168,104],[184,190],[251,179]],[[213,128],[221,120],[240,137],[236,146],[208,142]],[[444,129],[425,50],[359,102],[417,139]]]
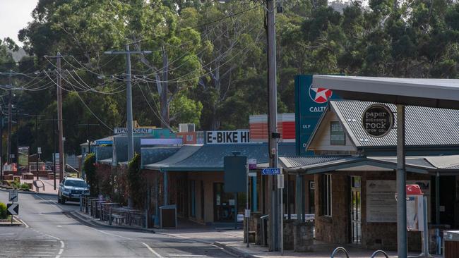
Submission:
[[[397,135],[393,129],[382,137],[366,135],[362,113],[371,104],[330,101],[306,150],[335,159],[287,171],[297,178],[314,176],[309,183],[315,188],[317,240],[396,250]],[[395,106],[387,106],[396,117]],[[406,113],[407,184],[419,185],[427,197],[429,225],[456,228],[459,130],[448,128],[459,123],[459,111],[407,106]],[[420,238],[419,232],[408,233],[408,250],[420,250]]]

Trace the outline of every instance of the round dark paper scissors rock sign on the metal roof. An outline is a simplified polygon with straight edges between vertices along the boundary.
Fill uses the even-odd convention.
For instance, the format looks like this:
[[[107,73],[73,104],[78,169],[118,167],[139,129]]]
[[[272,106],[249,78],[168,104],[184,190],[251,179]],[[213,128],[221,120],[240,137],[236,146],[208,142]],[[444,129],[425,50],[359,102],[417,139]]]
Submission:
[[[383,137],[393,127],[393,113],[388,106],[373,104],[367,107],[362,116],[365,133],[372,137]]]

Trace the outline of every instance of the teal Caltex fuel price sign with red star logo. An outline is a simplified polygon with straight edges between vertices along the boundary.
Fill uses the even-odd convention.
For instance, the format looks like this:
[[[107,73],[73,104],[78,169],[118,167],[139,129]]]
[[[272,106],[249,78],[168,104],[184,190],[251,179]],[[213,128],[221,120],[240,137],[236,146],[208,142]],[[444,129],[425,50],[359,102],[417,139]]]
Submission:
[[[326,85],[313,85],[312,75],[295,76],[295,134],[297,155],[306,152],[306,144],[326,110],[330,99],[340,99]]]

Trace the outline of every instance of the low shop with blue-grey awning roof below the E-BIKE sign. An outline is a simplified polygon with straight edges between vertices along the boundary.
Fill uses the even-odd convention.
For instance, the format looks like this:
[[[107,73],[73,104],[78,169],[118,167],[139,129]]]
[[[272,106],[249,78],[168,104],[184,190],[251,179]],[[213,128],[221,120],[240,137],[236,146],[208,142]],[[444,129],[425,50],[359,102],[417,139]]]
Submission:
[[[236,219],[242,222],[246,192],[225,192],[223,158],[237,151],[258,163],[265,163],[268,161],[266,149],[268,145],[263,142],[184,145],[167,159],[155,164],[143,163],[143,168],[150,173],[160,173],[164,191],[161,203],[176,204],[177,214],[182,218],[205,224],[234,225]],[[279,153],[294,155],[294,143],[281,143]],[[258,171],[250,182],[252,210],[267,212],[267,180]],[[290,185],[294,185],[294,181]],[[290,202],[290,207],[294,207],[294,201]]]

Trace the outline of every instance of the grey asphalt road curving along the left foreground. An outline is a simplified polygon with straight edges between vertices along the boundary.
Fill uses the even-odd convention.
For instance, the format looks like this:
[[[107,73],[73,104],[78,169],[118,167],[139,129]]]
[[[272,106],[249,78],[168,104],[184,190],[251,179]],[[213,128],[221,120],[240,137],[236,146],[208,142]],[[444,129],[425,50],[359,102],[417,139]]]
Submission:
[[[0,202],[7,198],[0,191]],[[233,257],[195,240],[86,226],[65,214],[77,203],[61,205],[56,197],[20,194],[19,204],[27,226],[0,227],[0,257]]]

